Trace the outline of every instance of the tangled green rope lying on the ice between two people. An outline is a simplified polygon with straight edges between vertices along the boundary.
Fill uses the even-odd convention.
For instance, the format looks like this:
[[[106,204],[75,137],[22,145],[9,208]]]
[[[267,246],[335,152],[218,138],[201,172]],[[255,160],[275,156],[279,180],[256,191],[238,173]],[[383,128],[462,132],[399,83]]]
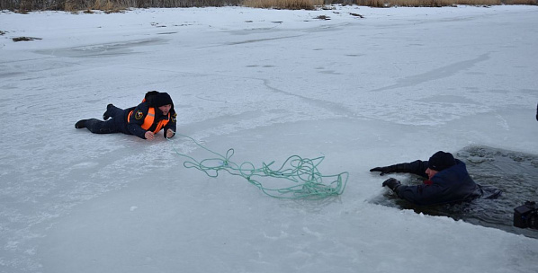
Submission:
[[[299,155],[291,155],[277,169],[272,169],[274,161],[271,163],[262,163],[261,168],[256,168],[253,163],[245,162],[241,164],[230,161],[234,155],[234,149],[229,149],[226,155],[218,154],[204,147],[193,137],[176,134],[181,137],[191,139],[196,145],[202,149],[215,154],[217,157],[208,158],[202,161],[197,161],[193,157],[182,154],[177,151],[175,145],[172,145],[176,154],[184,156],[190,161],[184,162],[185,168],[194,168],[205,172],[208,176],[216,178],[220,171],[229,172],[232,175],[238,175],[247,179],[248,182],[261,189],[266,195],[273,198],[286,199],[322,199],[340,195],[344,192],[348,172],[341,172],[335,175],[322,175],[318,172],[318,165],[325,156],[320,156],[314,159],[302,158]],[[172,140],[170,140],[172,141]],[[291,181],[293,186],[282,189],[266,188],[258,178],[276,178]],[[323,182],[323,179],[331,179],[328,184]]]

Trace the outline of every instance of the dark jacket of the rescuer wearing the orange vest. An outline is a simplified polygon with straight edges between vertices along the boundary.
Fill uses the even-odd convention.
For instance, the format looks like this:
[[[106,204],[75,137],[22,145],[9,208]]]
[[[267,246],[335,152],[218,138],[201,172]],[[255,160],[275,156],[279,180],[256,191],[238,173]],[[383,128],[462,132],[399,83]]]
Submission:
[[[168,119],[168,123],[164,127],[165,133],[164,136],[166,137],[166,131],[168,129],[172,129],[175,132],[175,126],[176,126],[176,120],[175,120],[175,110],[170,110],[170,115],[168,118],[168,115],[163,115],[163,112],[158,109],[158,107],[155,108],[155,119],[153,121],[153,124],[148,130],[145,130],[144,128],[141,128],[142,124],[144,123],[144,119],[148,116],[148,110],[149,105],[148,102],[142,102],[136,107],[131,107],[129,109],[126,109],[124,111],[125,114],[125,121],[127,122],[127,130],[130,134],[135,135],[137,137],[146,139],[144,137],[144,134],[146,134],[147,131],[153,131],[157,127],[157,123],[160,120]],[[142,118],[136,119],[135,116],[137,113],[141,113]],[[129,121],[127,121],[129,120]]]

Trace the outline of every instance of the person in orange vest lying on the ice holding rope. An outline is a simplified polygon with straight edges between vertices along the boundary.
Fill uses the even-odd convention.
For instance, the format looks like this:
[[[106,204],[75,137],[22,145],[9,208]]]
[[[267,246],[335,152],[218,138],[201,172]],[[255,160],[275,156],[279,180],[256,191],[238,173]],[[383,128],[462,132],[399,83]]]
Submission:
[[[112,104],[106,106],[102,121],[81,119],[75,128],[87,128],[94,134],[123,133],[152,140],[155,134],[165,129],[164,137],[175,136],[174,102],[166,92],[147,92],[144,100],[136,107],[126,110]],[[112,119],[109,119],[112,118]]]

